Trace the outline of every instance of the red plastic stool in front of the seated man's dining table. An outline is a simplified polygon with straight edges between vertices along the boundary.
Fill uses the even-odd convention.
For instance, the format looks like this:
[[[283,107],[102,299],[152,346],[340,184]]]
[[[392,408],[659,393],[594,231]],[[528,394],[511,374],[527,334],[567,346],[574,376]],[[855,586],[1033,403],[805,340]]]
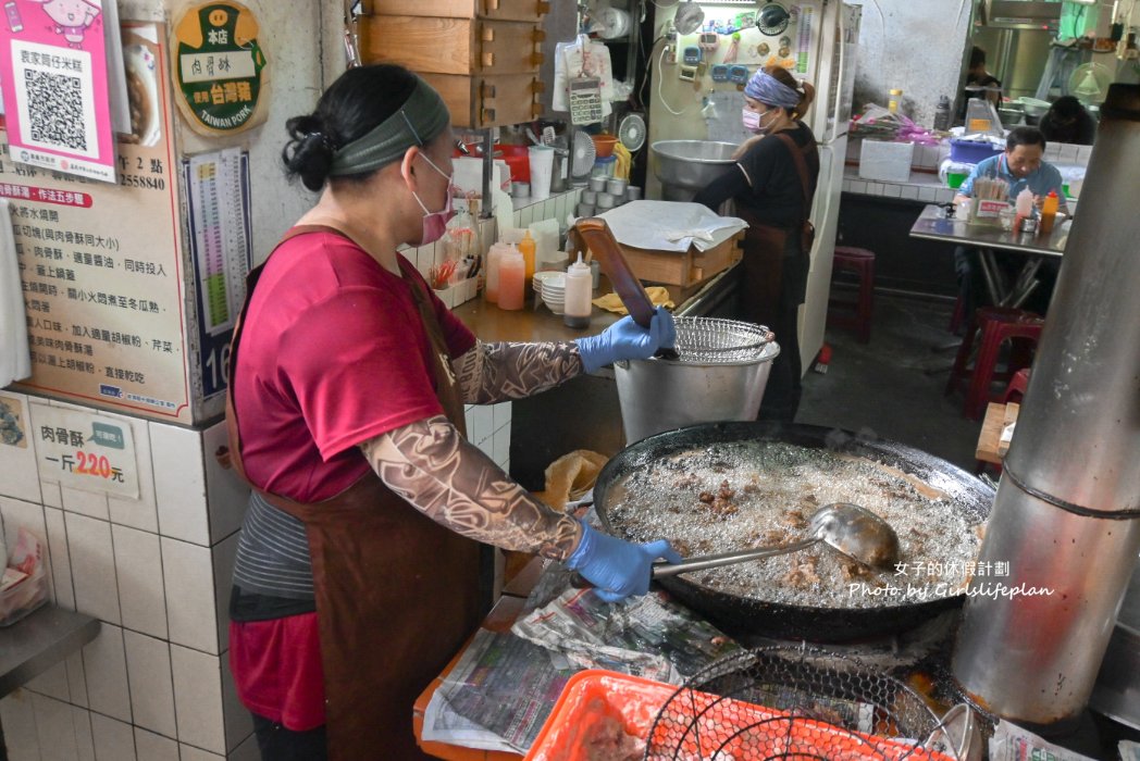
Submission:
[[[1041,339],[1041,328],[1045,321],[1020,309],[1004,306],[983,306],[974,313],[974,326],[962,338],[962,345],[954,359],[954,367],[946,382],[946,395],[953,393],[959,382],[969,376],[970,385],[966,392],[966,403],[962,415],[977,420],[990,401],[990,386],[995,379],[1008,379],[1017,370],[1029,366],[1031,357],[1027,344],[1036,344]],[[974,337],[979,335],[978,357],[972,369],[968,368],[974,352]],[[1009,362],[1004,373],[997,373],[997,354],[1007,341],[1013,342]]]

